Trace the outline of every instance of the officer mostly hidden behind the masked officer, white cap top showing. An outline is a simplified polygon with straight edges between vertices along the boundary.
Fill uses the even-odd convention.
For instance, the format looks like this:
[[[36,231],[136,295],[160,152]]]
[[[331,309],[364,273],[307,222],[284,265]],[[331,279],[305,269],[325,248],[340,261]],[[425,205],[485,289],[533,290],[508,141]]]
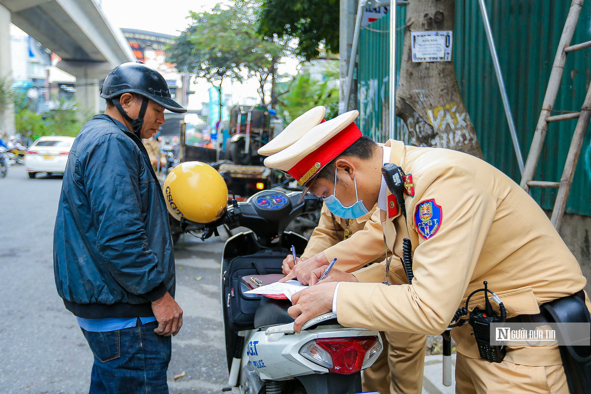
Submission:
[[[279,135],[258,153],[264,156],[280,152],[296,142],[316,125],[324,122],[326,108],[316,106],[294,119]],[[342,219],[330,213],[326,205],[320,211],[318,226],[314,229],[306,250],[298,259],[298,268],[303,268],[298,279],[307,284],[310,272],[323,266],[327,259],[337,258],[336,267],[342,271],[355,271],[369,263],[384,260],[384,244],[379,224],[377,206],[369,213],[356,219]],[[367,226],[366,226],[367,223]],[[364,231],[361,231],[366,227]],[[358,248],[358,245],[364,245]],[[291,279],[296,277],[293,256],[284,260],[284,273]],[[403,282],[401,282],[403,283]],[[377,390],[381,393],[420,393],[423,387],[423,366],[426,336],[411,333],[381,333],[384,349],[379,359],[363,371],[363,390]]]

